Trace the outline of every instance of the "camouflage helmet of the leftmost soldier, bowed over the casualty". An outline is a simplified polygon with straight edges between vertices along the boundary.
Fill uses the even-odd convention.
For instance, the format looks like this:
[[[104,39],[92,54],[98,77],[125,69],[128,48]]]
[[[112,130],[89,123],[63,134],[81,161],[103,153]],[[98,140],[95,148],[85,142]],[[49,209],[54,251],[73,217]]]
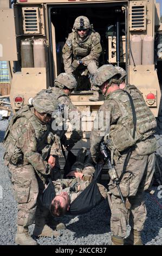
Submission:
[[[47,94],[36,95],[33,100],[33,106],[38,113],[52,114],[57,111],[59,102],[57,100],[51,101]]]

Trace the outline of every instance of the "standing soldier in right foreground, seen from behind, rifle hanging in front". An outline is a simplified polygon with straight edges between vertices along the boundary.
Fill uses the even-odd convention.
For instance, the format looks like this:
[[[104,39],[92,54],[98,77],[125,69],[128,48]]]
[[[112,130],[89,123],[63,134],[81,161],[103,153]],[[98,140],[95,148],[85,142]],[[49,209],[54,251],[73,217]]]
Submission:
[[[131,93],[135,108],[136,125],[134,129],[133,111],[129,96],[119,88],[119,71],[112,65],[103,65],[98,69],[93,82],[98,84],[106,96],[98,116],[103,116],[103,125],[96,124],[90,136],[90,151],[95,162],[100,157],[100,142],[103,140],[111,150],[112,163],[115,165],[120,181],[120,189],[126,202],[129,202],[129,224],[131,234],[125,244],[142,245],[140,233],[146,220],[146,206],[143,192],[151,184],[155,169],[154,151],[157,143],[153,136],[156,120],[141,95]],[[108,118],[106,119],[106,113]],[[95,122],[96,122],[95,120]],[[133,124],[134,123],[134,124]],[[105,127],[105,129],[103,129]],[[123,173],[122,173],[123,172]],[[122,173],[122,176],[121,176]],[[111,180],[111,231],[112,245],[123,245],[128,222],[128,205],[123,204]]]

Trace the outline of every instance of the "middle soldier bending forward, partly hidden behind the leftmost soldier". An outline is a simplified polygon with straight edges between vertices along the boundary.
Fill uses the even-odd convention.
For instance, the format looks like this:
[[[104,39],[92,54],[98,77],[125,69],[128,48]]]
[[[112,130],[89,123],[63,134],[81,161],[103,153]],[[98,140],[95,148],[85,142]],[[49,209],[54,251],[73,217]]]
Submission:
[[[50,149],[50,157],[48,159],[48,164],[53,168],[54,179],[61,178],[59,156],[61,156],[61,143],[70,150],[74,147],[75,143],[82,138],[81,131],[81,113],[77,107],[75,107],[69,98],[70,93],[76,88],[76,80],[72,74],[61,73],[56,77],[54,81],[54,87],[49,87],[47,90],[41,90],[34,97],[36,99],[39,95],[44,95],[55,102],[59,101],[61,105],[64,106],[64,124],[66,124],[67,119],[69,119],[72,125],[72,135],[67,139],[65,133],[68,127],[64,125],[62,130],[53,131],[55,141]],[[60,142],[61,140],[61,142]]]

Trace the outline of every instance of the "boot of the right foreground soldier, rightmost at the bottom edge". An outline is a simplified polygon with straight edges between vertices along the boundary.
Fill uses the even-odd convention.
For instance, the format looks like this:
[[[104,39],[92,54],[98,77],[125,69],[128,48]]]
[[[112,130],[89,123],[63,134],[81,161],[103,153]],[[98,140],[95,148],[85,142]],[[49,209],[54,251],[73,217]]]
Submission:
[[[129,236],[124,241],[124,245],[143,245],[141,240],[141,232],[131,229]]]

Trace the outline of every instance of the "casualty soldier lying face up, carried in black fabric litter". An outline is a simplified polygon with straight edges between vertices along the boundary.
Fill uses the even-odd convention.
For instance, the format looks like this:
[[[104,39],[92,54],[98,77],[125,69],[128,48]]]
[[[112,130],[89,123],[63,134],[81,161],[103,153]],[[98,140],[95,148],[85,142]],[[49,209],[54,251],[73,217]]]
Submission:
[[[81,148],[77,154],[76,162],[73,164],[71,172],[67,176],[74,175],[74,179],[59,179],[53,181],[56,196],[51,202],[50,212],[54,216],[60,217],[69,210],[70,204],[79,194],[85,190],[93,179],[95,168],[92,157],[89,154],[86,161],[86,148]],[[70,191],[70,187],[74,187],[74,191]],[[107,190],[98,183],[99,191],[103,198],[107,198]]]

